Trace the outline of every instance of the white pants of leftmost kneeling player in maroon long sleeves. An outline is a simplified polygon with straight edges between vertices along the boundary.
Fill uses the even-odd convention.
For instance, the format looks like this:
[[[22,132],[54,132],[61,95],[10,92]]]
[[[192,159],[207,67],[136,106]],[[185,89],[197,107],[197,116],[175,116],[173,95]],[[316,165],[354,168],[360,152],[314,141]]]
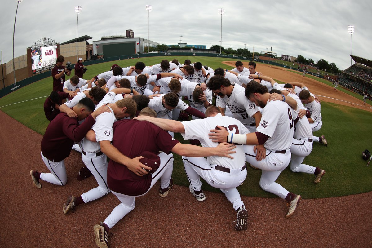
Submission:
[[[51,161],[44,157],[42,153],[41,158],[51,173],[41,173],[40,178],[48,183],[64,186],[67,183],[65,160]]]

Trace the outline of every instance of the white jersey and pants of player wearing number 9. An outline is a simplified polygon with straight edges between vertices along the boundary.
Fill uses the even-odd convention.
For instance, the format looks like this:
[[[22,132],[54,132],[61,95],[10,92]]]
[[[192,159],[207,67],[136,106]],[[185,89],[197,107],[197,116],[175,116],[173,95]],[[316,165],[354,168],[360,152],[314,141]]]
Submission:
[[[290,147],[294,132],[294,120],[298,117],[292,115],[291,109],[288,104],[280,101],[267,101],[263,108],[257,132],[269,136],[264,143],[266,148],[265,159],[257,161],[253,150],[254,146],[244,146],[246,161],[254,167],[262,169],[260,187],[283,199],[289,191],[275,183],[275,180],[291,160]],[[296,114],[296,112],[294,113]]]

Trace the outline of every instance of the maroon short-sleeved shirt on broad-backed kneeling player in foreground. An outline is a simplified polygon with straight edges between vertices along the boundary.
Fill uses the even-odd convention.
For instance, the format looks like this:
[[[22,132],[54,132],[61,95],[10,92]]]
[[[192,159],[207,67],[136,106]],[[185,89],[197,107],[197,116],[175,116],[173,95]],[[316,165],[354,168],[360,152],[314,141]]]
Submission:
[[[138,157],[144,151],[170,154],[179,141],[168,132],[147,121],[119,120],[113,125],[112,144],[129,158]],[[125,165],[110,160],[107,169],[107,183],[110,190],[128,196],[146,193],[151,186],[151,174],[143,177],[135,174]]]

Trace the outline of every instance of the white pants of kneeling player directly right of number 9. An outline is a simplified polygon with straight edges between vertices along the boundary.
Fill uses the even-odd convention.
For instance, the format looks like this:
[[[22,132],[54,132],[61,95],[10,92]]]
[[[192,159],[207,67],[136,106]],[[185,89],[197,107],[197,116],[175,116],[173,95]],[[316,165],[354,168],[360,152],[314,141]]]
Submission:
[[[292,139],[291,171],[314,174],[315,167],[302,164],[302,161],[304,161],[305,157],[310,154],[311,150],[312,141],[309,142],[308,138]]]

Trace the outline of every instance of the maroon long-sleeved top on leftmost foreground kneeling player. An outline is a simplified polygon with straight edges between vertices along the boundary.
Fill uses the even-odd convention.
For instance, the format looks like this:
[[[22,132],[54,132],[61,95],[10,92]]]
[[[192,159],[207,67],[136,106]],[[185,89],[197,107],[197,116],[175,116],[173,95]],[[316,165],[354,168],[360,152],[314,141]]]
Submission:
[[[70,155],[74,142],[80,142],[96,121],[90,115],[79,126],[77,118],[58,114],[49,123],[41,141],[41,152],[51,161],[62,161]]]

